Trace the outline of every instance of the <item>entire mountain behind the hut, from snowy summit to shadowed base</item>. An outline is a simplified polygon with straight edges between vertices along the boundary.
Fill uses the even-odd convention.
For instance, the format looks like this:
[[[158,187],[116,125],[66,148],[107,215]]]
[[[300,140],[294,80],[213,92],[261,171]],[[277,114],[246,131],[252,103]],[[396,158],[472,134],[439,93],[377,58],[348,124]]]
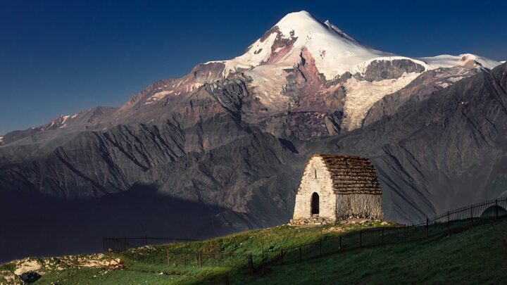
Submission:
[[[281,224],[313,153],[372,158],[389,220],[506,195],[507,65],[495,65],[396,56],[291,13],[242,56],[155,82],[118,108],[4,135],[0,211],[20,214],[0,253]],[[39,244],[10,246],[34,234]]]

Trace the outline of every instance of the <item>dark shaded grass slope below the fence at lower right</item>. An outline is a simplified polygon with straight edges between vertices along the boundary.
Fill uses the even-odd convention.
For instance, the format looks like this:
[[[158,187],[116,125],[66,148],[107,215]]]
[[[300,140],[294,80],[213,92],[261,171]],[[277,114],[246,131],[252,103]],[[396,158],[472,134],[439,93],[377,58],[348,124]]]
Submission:
[[[272,267],[263,277],[238,272],[227,280],[233,284],[505,284],[507,221],[444,239]]]

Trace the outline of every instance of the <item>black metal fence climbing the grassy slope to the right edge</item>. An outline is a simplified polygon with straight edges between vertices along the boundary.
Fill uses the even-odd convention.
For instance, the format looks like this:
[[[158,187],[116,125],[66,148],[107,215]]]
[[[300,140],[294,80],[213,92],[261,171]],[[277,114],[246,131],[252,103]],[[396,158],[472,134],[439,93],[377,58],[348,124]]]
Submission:
[[[261,265],[265,263],[301,262],[330,253],[349,251],[354,248],[418,241],[435,236],[450,235],[484,222],[507,217],[506,209],[507,197],[498,198],[458,208],[408,226],[381,227],[325,236],[311,243],[282,248],[277,251],[265,251],[261,256]]]

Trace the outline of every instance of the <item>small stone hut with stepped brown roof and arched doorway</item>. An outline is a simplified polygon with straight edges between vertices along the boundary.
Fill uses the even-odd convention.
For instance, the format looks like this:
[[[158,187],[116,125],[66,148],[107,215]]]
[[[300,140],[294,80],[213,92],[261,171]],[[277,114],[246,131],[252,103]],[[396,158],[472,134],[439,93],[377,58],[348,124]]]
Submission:
[[[382,219],[382,189],[375,167],[358,156],[312,156],[301,177],[292,223],[349,217]]]

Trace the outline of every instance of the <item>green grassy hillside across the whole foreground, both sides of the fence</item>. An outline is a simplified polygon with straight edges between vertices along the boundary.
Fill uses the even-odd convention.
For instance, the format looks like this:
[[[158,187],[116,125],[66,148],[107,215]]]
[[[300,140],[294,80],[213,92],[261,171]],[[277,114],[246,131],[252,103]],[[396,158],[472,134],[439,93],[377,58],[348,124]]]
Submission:
[[[28,262],[38,263],[35,284],[305,284],[305,283],[502,283],[507,278],[507,221],[485,224],[443,239],[404,243],[276,265],[264,274],[227,267],[167,265],[165,249],[258,253],[262,249],[305,243],[330,232],[379,227],[364,224],[275,227],[199,243],[137,248],[126,253],[21,260],[0,265],[0,275]],[[36,262],[37,261],[37,262]],[[24,262],[24,263],[23,263]],[[2,273],[3,272],[3,273]],[[1,277],[0,277],[1,283]]]

